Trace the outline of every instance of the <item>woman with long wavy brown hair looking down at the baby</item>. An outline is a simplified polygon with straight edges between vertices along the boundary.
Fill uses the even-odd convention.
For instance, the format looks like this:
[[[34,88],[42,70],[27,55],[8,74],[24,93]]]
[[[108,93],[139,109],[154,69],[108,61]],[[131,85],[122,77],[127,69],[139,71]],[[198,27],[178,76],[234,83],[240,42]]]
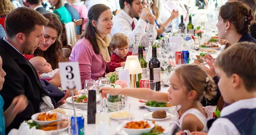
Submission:
[[[42,15],[49,20],[49,23],[44,27],[43,36],[45,43],[40,44],[39,47],[34,51],[33,55],[24,54],[24,56],[28,60],[34,56],[42,56],[48,63],[50,63],[50,65],[52,65],[52,69],[56,69],[58,68],[58,63],[64,59],[61,41],[61,33],[63,29],[62,23],[60,22],[58,16],[54,13],[43,13]],[[60,82],[55,82],[55,80],[53,80],[51,83],[53,83],[55,86],[60,85]]]

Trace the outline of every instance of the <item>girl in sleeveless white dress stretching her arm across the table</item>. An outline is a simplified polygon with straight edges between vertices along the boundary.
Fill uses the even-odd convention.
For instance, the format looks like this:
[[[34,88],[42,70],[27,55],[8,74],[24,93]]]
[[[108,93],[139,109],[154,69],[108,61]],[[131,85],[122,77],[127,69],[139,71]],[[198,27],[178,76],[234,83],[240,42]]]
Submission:
[[[207,114],[200,101],[211,99],[215,94],[215,83],[198,65],[186,64],[175,69],[170,77],[168,93],[147,88],[102,88],[102,96],[126,95],[148,101],[170,102],[180,105],[177,111],[182,130],[207,132]]]

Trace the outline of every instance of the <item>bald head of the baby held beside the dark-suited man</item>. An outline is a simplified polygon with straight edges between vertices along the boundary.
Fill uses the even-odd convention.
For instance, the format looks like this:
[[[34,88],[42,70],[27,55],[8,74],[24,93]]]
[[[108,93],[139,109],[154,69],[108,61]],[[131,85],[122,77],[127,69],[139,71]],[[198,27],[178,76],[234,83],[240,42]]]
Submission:
[[[52,71],[52,66],[41,56],[33,57],[29,61],[39,74]]]

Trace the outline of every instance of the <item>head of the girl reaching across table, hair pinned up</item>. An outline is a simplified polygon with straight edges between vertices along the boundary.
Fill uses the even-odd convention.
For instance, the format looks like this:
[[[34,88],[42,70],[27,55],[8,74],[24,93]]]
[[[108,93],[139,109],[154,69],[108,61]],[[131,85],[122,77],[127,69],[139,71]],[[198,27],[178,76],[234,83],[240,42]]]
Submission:
[[[169,102],[176,106],[186,102],[212,99],[216,95],[213,79],[198,65],[186,64],[175,69],[170,77]]]

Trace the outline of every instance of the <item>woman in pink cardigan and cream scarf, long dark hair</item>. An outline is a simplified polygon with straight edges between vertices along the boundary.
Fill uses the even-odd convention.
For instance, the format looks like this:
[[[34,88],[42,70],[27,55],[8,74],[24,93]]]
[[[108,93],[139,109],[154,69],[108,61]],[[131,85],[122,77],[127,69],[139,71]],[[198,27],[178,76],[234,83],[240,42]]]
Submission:
[[[104,4],[89,9],[85,32],[69,57],[70,61],[79,63],[82,87],[86,80],[98,80],[105,74],[106,63],[110,62],[107,47],[111,41],[108,34],[113,26],[112,18],[110,8]]]

